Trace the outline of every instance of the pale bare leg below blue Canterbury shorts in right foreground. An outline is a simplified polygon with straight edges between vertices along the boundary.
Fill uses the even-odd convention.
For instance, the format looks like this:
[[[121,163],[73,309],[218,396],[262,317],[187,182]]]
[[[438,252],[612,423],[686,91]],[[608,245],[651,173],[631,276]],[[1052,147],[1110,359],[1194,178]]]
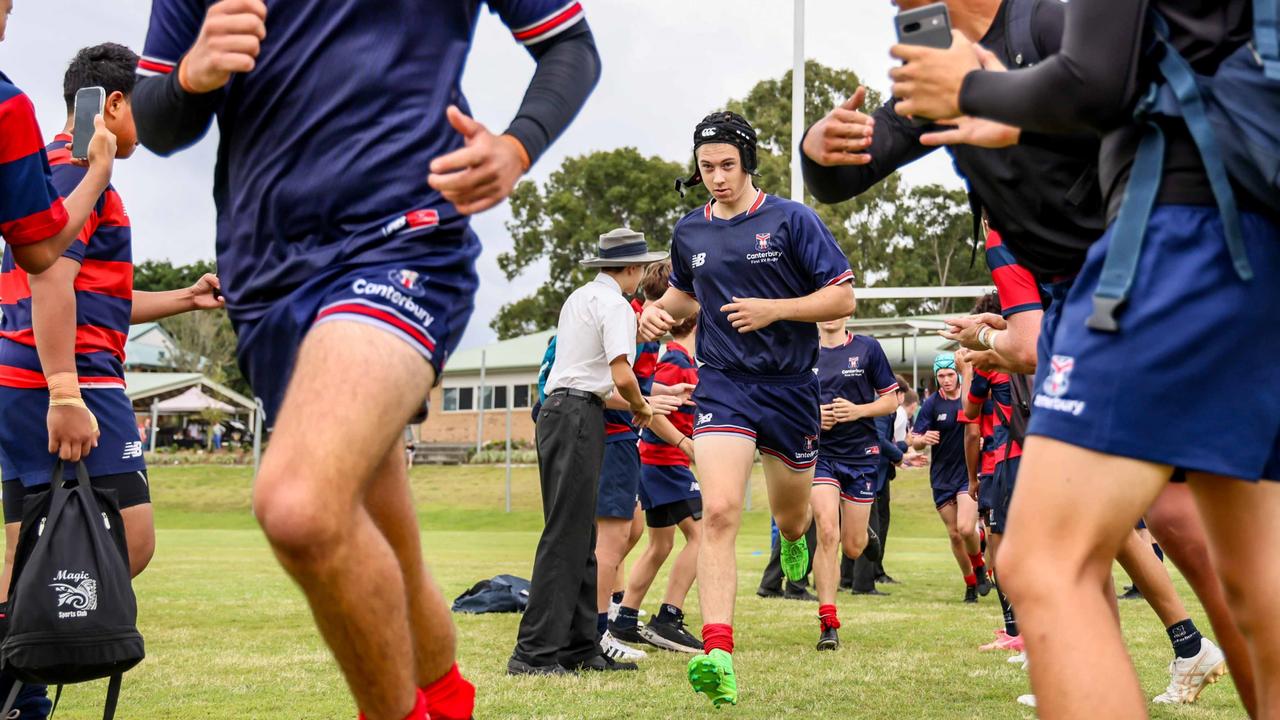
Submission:
[[[1162,465],[1028,438],[997,562],[1018,609],[1041,717],[1147,716],[1108,579],[1169,474]]]

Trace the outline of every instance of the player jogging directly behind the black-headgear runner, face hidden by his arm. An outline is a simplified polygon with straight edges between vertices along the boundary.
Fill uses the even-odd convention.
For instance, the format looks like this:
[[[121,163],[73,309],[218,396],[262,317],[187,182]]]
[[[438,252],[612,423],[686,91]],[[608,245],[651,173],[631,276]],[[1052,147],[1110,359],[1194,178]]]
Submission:
[[[822,439],[810,497],[818,524],[818,552],[813,556],[818,650],[840,647],[840,551],[856,560],[868,547],[872,503],[881,489],[874,419],[897,410],[897,379],[884,350],[876,338],[846,331],[846,320],[818,324],[822,348],[814,368],[822,387]],[[876,560],[876,555],[869,557]]]

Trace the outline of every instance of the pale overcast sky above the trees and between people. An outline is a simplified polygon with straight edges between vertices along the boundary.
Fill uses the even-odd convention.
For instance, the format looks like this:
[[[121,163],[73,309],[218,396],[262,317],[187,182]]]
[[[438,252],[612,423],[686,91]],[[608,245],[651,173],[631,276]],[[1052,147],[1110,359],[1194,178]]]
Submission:
[[[283,0],[268,0],[268,6],[273,1]],[[15,0],[8,38],[0,44],[0,70],[31,96],[47,137],[65,119],[61,78],[70,56],[105,41],[141,53],[150,5],[150,0]],[[582,5],[604,73],[577,120],[530,173],[538,181],[566,156],[623,145],[684,161],[690,131],[704,114],[791,67],[790,0],[582,0]],[[884,90],[892,15],[888,0],[808,0],[805,55],[850,68]],[[477,118],[494,132],[515,114],[532,69],[532,60],[498,18],[484,13],[462,87]],[[214,256],[215,147],[216,129],[173,158],[140,150],[116,165],[114,183],[129,209],[136,261]],[[942,152],[904,174],[911,183],[960,186]],[[462,348],[493,340],[489,320],[498,307],[540,283],[531,274],[508,283],[498,270],[498,254],[511,247],[503,228],[508,218],[502,205],[474,220],[485,246],[481,292]]]

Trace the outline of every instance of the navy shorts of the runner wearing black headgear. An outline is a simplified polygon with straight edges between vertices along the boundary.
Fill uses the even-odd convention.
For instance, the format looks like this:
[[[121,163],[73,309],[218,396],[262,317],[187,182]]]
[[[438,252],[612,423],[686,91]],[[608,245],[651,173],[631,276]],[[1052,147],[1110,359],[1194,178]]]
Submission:
[[[698,420],[694,438],[732,436],[755,442],[792,470],[818,461],[818,378],[813,373],[785,378],[746,377],[704,365],[698,372]]]

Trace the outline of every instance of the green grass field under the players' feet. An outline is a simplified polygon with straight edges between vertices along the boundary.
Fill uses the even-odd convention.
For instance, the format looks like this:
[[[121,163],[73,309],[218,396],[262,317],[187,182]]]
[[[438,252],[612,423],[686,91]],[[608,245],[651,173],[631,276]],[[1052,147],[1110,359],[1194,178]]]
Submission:
[[[503,512],[502,469],[416,469],[424,546],[445,594],[498,573],[529,577],[541,525],[536,470],[513,475]],[[137,580],[147,659],[125,676],[118,717],[352,719],[353,706],[315,633],[302,596],[276,566],[250,515],[250,471],[155,468],[159,550]],[[927,478],[893,484],[886,565],[902,584],[892,597],[840,596],[844,647],[818,655],[817,607],[760,600],[768,515],[759,478],[739,541],[736,666],[741,705],[714,711],[685,682],[687,656],[653,651],[639,673],[557,679],[504,675],[518,616],[458,616],[461,665],[479,685],[476,717],[1032,717],[1014,702],[1025,675],[1002,653],[979,653],[1000,606],[960,602],[963,587],[929,502]],[[641,541],[644,542],[644,541]],[[1181,578],[1192,614],[1207,629]],[[648,610],[655,610],[660,577]],[[378,592],[370,588],[370,592]],[[696,591],[695,591],[696,592]],[[687,607],[700,626],[698,603]],[[1167,682],[1171,657],[1160,623],[1142,602],[1121,606],[1129,647],[1149,696]],[[102,687],[78,685],[59,717],[96,719]],[[1080,692],[1089,692],[1080,688]],[[1153,717],[1243,717],[1230,679],[1199,705],[1153,707]]]

